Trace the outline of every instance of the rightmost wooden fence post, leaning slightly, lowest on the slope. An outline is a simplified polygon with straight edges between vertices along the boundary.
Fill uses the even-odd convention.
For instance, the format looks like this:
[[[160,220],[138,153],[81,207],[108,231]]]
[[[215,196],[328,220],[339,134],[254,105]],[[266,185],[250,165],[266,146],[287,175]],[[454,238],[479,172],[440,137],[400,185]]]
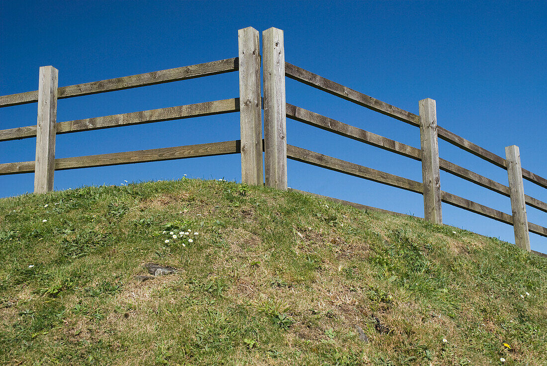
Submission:
[[[513,213],[513,228],[515,244],[525,251],[530,251],[530,236],[528,234],[528,218],[524,185],[522,184],[522,167],[520,165],[519,147],[512,145],[505,148],[507,159],[507,175],[509,177],[509,193],[511,196],[511,212]]]

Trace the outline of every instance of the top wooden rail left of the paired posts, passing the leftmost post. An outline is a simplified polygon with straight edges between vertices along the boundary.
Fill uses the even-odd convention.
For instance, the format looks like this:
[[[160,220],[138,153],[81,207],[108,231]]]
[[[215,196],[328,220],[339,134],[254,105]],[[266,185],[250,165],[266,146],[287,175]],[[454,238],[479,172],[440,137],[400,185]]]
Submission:
[[[98,82],[62,86],[58,98],[71,98],[83,95],[103,93],[107,91],[137,88],[139,86],[155,85],[179,80],[199,78],[208,75],[237,71],[237,57],[226,60],[199,63],[144,74],[124,76],[121,78],[100,80]],[[38,101],[38,91],[28,91],[19,94],[0,96],[0,107],[17,106]]]

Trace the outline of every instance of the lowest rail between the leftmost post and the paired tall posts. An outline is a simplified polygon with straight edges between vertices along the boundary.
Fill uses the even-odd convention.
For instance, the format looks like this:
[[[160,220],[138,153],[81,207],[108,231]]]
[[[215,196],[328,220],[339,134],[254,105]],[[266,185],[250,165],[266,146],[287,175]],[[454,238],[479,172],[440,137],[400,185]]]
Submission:
[[[55,160],[56,170],[78,169],[85,167],[134,164],[137,162],[162,161],[237,154],[240,141],[212,142],[188,146],[167,147],[161,149],[138,150],[123,153],[77,156]]]

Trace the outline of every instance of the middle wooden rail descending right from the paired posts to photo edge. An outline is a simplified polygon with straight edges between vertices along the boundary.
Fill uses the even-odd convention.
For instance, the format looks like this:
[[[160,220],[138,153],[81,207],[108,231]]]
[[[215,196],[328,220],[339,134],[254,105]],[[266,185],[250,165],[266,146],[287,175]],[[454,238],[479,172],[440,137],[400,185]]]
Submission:
[[[294,119],[310,126],[318,127],[325,131],[334,132],[337,135],[352,138],[353,140],[403,155],[407,158],[417,161],[422,160],[421,150],[413,146],[376,135],[376,133],[359,129],[358,127],[342,123],[321,114],[307,111],[304,108],[293,106],[293,104],[287,103],[286,111],[287,117],[290,119]],[[481,176],[445,159],[439,159],[439,166],[441,170],[451,173],[452,175],[509,197],[509,187],[507,187],[507,185],[503,185],[493,181],[492,179]],[[526,204],[537,208],[538,210],[547,212],[547,204],[531,196],[526,196]]]

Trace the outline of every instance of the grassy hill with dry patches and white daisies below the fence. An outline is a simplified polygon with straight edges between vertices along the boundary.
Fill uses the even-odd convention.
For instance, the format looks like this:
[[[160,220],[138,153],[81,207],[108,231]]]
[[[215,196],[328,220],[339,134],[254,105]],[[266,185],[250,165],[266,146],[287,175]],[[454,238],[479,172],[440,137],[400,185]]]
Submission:
[[[547,364],[547,258],[294,192],[1,199],[0,259],[0,364]]]

